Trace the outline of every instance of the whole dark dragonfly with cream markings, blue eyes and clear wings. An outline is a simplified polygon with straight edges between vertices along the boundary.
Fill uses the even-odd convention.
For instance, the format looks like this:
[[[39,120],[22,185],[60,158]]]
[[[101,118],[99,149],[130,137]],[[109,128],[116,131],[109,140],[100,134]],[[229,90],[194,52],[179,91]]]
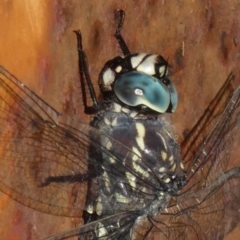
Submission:
[[[83,97],[86,113],[95,114],[90,125],[60,114],[0,68],[0,190],[37,211],[83,214],[83,226],[48,239],[223,239],[239,222],[240,169],[228,161],[240,88],[229,90],[230,74],[180,153],[163,118],[178,105],[168,63],[131,54],[119,14],[115,36],[124,57],[103,67],[101,103],[76,31],[82,87],[93,99],[87,107]]]

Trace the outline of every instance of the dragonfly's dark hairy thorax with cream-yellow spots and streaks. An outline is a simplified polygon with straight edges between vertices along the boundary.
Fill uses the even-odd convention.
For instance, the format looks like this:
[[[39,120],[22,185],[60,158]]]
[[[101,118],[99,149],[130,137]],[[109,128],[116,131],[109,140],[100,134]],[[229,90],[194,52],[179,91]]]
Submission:
[[[101,140],[107,149],[98,153],[102,155],[101,192],[89,208],[104,209],[103,216],[130,210],[154,215],[164,209],[169,196],[185,184],[170,125],[163,119],[132,118],[116,108],[98,116],[93,125],[110,138]],[[127,148],[119,149],[121,144]]]

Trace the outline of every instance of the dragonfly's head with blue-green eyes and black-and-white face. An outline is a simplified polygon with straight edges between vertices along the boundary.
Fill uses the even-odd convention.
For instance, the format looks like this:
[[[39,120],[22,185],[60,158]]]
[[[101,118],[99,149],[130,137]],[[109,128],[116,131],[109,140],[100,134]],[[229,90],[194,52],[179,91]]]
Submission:
[[[99,85],[105,98],[130,108],[173,113],[178,94],[168,72],[169,65],[162,56],[131,54],[108,61],[100,74]]]

